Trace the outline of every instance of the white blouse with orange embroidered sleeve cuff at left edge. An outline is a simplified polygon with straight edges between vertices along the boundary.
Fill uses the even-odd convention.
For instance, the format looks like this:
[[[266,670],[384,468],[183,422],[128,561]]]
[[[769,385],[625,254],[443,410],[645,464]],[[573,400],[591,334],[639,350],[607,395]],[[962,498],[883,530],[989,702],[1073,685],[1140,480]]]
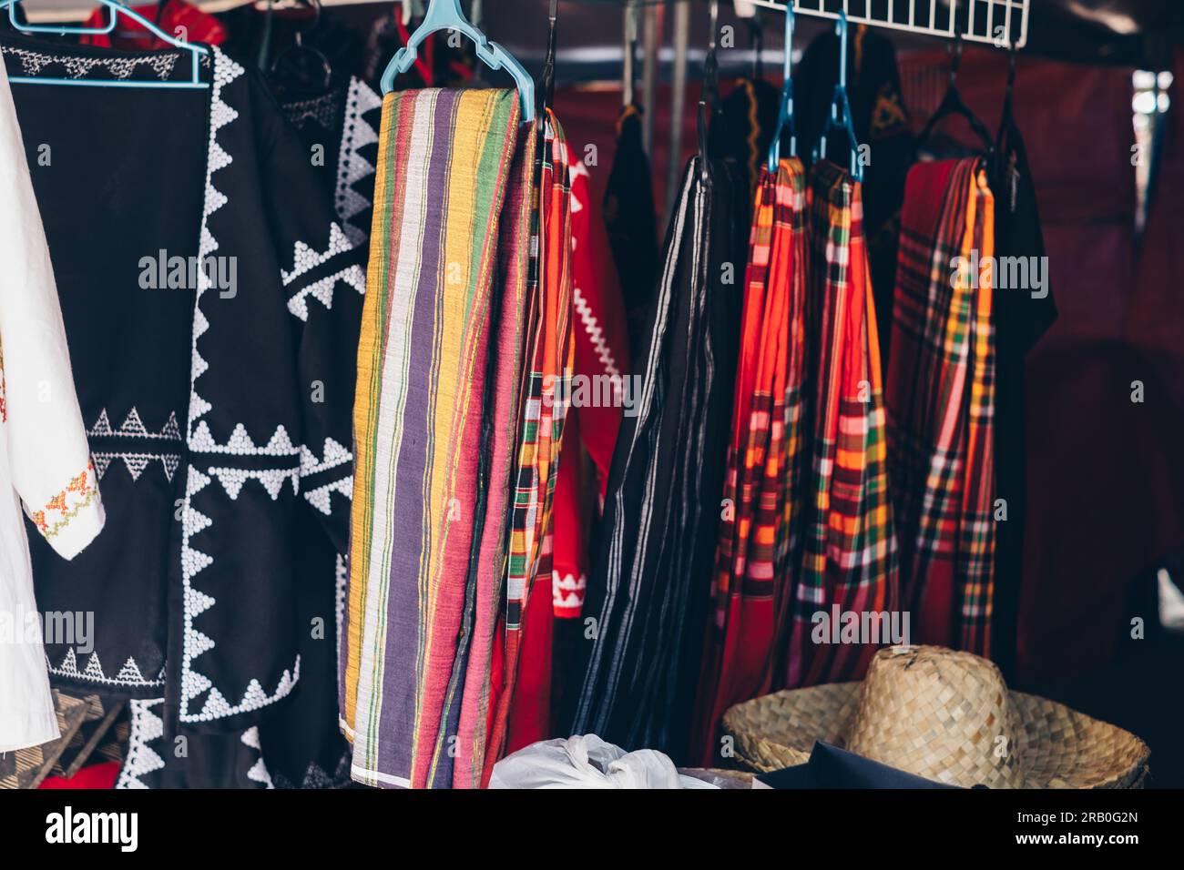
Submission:
[[[103,528],[50,251],[0,63],[0,752],[58,736],[21,505],[65,559]]]

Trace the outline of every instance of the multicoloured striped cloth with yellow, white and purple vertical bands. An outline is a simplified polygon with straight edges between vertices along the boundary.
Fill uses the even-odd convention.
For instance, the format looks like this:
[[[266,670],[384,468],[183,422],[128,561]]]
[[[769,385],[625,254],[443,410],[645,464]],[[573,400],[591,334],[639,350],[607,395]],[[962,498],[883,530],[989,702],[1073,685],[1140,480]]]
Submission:
[[[509,90],[384,98],[354,406],[343,659],[353,776],[427,785],[462,624],[477,503]]]

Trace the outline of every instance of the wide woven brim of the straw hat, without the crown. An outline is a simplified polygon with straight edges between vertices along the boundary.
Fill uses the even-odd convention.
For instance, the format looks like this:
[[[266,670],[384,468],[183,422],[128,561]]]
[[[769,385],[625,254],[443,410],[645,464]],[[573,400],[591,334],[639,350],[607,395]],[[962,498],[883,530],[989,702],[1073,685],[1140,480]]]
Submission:
[[[862,685],[829,683],[746,701],[723,714],[723,733],[735,739],[738,759],[759,772],[805,763],[817,740],[845,748]],[[1143,785],[1151,750],[1137,736],[1037,695],[1008,695],[1022,726],[1016,750],[1024,787]]]

